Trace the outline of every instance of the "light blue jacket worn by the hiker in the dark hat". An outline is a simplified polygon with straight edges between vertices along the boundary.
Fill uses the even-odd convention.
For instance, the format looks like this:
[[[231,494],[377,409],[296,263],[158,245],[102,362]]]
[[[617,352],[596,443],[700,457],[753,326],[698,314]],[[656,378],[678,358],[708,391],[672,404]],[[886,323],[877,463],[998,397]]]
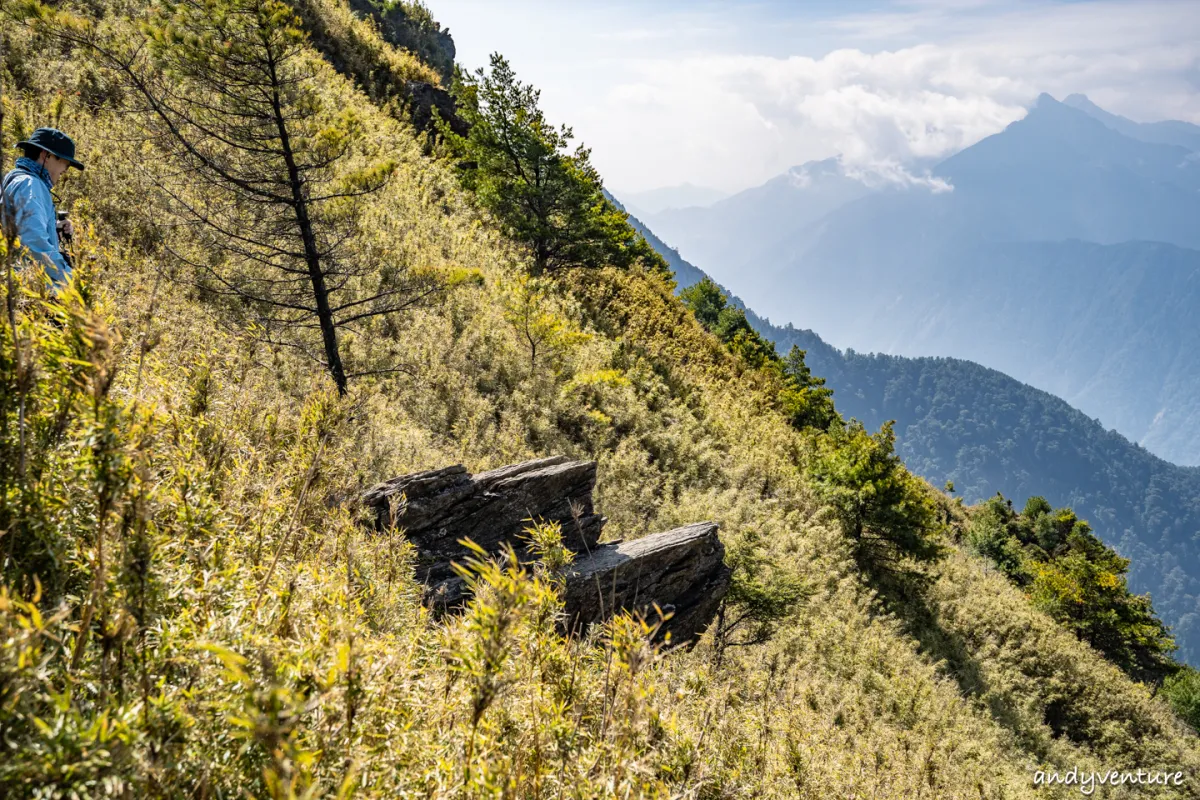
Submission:
[[[59,231],[55,225],[54,198],[50,197],[50,174],[31,158],[18,158],[17,167],[4,179],[5,227],[20,239],[55,285],[71,278],[71,266],[59,252]]]

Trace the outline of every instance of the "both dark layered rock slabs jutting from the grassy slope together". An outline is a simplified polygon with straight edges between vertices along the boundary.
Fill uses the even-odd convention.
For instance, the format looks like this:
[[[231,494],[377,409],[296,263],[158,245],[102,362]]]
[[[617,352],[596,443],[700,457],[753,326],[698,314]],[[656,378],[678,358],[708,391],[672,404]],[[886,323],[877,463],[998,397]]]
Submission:
[[[460,540],[469,539],[488,554],[510,546],[528,563],[533,553],[523,534],[529,521],[557,522],[563,542],[576,553],[565,576],[565,631],[582,631],[619,610],[653,621],[658,604],[670,612],[660,634],[670,632],[676,642],[695,637],[730,585],[716,523],[599,545],[605,519],[593,506],[595,481],[595,462],[554,456],[478,475],[461,464],[402,475],[372,487],[362,501],[377,530],[395,527],[416,547],[416,578],[432,608],[444,612],[466,600],[452,565],[472,553]]]

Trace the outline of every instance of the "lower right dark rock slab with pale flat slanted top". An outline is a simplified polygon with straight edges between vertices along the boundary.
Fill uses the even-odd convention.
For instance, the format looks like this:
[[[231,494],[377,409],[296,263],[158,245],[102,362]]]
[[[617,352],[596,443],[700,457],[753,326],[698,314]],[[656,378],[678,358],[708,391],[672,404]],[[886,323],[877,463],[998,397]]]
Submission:
[[[601,545],[566,575],[565,627],[582,630],[618,610],[650,619],[658,603],[664,613],[672,612],[661,632],[673,640],[689,639],[704,630],[728,591],[724,559],[714,522]]]

